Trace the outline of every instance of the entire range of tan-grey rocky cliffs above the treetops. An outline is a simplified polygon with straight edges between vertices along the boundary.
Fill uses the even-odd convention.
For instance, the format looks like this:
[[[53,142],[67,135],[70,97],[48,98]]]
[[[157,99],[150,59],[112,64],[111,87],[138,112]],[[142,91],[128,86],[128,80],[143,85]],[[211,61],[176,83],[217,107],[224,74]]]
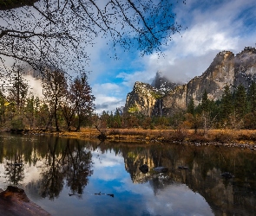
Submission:
[[[154,81],[155,87],[136,82],[133,91],[128,93],[125,110],[136,107],[136,111],[145,115],[169,116],[174,111],[186,110],[191,98],[198,105],[205,90],[208,98],[217,100],[221,98],[224,86],[229,85],[233,89],[242,84],[247,88],[255,79],[255,48],[245,48],[236,55],[230,51],[222,51],[216,55],[206,72],[182,86],[167,82],[158,73]]]

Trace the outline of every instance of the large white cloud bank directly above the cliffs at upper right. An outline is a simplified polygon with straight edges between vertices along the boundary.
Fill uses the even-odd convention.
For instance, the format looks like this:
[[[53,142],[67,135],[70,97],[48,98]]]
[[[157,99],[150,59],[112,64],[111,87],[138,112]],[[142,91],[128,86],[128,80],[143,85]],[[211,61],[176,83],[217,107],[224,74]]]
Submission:
[[[197,7],[194,8],[194,4]],[[194,76],[205,72],[213,58],[222,50],[239,53],[245,46],[253,46],[254,34],[243,35],[245,31],[244,16],[239,16],[243,10],[255,6],[253,1],[236,0],[209,5],[196,1],[193,5],[176,9],[178,22],[189,24],[188,29],[175,34],[173,40],[165,47],[164,57],[157,54],[146,56],[142,60],[145,70],[128,74],[124,84],[130,84],[135,79],[148,82],[148,74],[157,71],[164,73],[175,82],[186,82]],[[188,3],[189,4],[189,3]],[[240,18],[238,18],[238,16]]]

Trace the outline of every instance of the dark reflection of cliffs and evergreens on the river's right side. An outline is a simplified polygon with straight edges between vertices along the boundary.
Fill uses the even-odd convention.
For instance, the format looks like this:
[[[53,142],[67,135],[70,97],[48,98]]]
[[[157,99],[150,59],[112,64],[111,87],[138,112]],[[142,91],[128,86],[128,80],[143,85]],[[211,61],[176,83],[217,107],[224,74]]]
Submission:
[[[134,182],[148,181],[158,194],[173,183],[186,184],[194,192],[201,194],[212,207],[216,215],[240,214],[251,215],[256,206],[256,157],[249,149],[231,149],[213,146],[184,145],[151,145],[144,149],[132,147],[119,149],[126,162],[126,170]],[[144,175],[139,167],[144,163],[146,151],[149,151],[146,161],[149,172]],[[133,151],[133,154],[129,152]],[[144,158],[141,160],[141,158]],[[166,166],[166,174],[153,172],[157,166]],[[187,170],[178,166],[187,166]],[[235,178],[226,179],[220,174],[232,173]],[[143,181],[144,179],[144,181]]]

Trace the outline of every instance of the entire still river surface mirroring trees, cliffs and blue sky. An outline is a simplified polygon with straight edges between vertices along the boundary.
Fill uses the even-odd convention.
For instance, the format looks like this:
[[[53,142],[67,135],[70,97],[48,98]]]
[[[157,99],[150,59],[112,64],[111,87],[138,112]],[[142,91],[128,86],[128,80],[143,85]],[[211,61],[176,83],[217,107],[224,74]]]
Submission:
[[[23,187],[52,215],[254,215],[256,210],[256,157],[247,149],[1,134],[0,162],[0,187]],[[169,171],[155,173],[159,166]],[[224,172],[235,177],[223,178]]]

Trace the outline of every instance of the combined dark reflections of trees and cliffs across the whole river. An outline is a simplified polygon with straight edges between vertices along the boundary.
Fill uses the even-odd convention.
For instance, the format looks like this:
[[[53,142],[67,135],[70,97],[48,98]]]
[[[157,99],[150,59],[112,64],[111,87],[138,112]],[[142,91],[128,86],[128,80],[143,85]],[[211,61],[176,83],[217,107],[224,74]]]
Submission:
[[[123,156],[125,168],[132,180],[139,183],[148,181],[154,188],[155,194],[164,190],[167,185],[177,182],[186,184],[193,191],[204,196],[216,214],[220,213],[220,209],[229,209],[229,212],[227,210],[223,212],[227,215],[233,214],[233,208],[248,209],[247,213],[250,213],[252,206],[254,204],[256,206],[254,151],[175,144],[98,145],[98,143],[56,137],[36,137],[33,142],[28,141],[28,143],[20,138],[15,142],[6,142],[0,137],[0,141],[2,162],[6,160],[9,163],[23,162],[30,165],[30,163],[36,164],[38,160],[44,160],[43,179],[38,184],[36,182],[35,187],[39,187],[40,183],[41,194],[49,199],[54,199],[60,194],[64,183],[70,188],[70,194],[82,194],[84,187],[89,183],[88,177],[92,174],[90,151],[98,148],[102,154],[114,151],[115,155]],[[150,168],[146,175],[139,170],[144,163]],[[156,166],[167,166],[169,172],[164,175],[155,174],[152,168]],[[187,166],[188,169],[179,170],[178,166]],[[12,167],[9,165],[6,167],[10,182],[18,183],[22,180],[22,168],[18,171],[16,169],[16,174],[20,172],[22,175],[21,177],[16,175],[14,181]],[[220,175],[222,172],[231,172],[235,178],[223,179]]]

